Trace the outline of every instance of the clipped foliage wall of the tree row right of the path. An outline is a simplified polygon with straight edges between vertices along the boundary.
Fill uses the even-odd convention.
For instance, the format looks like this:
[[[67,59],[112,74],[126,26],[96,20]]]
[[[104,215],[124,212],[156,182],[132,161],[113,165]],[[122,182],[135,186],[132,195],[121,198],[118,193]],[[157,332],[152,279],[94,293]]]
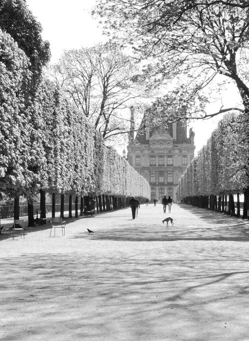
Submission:
[[[227,114],[181,176],[178,198],[243,193],[249,186],[249,119]]]

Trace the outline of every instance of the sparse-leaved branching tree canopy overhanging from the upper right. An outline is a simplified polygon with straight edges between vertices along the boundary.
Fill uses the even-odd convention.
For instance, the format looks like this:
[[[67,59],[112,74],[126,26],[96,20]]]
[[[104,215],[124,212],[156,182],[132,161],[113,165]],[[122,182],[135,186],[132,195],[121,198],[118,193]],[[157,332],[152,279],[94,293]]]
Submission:
[[[179,112],[186,118],[231,109],[249,113],[249,1],[98,0],[93,13],[105,18],[106,32],[125,35],[146,60],[148,86],[162,94],[166,88],[151,108],[156,116],[158,108],[166,118],[171,110],[171,120]],[[221,82],[234,84],[242,106],[207,114],[210,92]]]

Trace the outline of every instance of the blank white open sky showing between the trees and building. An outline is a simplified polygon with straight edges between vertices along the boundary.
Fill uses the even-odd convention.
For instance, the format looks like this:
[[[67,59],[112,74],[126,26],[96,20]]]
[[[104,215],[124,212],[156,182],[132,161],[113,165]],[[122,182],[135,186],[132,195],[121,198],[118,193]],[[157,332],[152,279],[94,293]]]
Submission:
[[[56,63],[63,50],[89,47],[107,39],[102,35],[98,21],[91,16],[95,0],[26,0],[26,3],[41,23],[42,38],[50,43],[51,63]],[[224,93],[224,107],[233,106],[235,96],[233,89]],[[220,106],[220,101],[211,104],[208,107],[209,113],[215,112]],[[206,144],[221,119],[219,115],[205,121],[188,122],[189,128],[192,127],[195,132],[195,155]],[[122,150],[118,152],[122,153]]]

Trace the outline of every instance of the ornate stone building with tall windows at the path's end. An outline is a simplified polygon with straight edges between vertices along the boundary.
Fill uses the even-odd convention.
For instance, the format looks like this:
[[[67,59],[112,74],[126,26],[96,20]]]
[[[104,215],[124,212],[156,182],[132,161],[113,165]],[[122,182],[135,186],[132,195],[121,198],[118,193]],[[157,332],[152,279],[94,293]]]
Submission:
[[[151,200],[170,195],[176,202],[178,180],[194,157],[194,135],[190,128],[187,137],[186,124],[179,121],[130,139],[127,160],[149,182]]]

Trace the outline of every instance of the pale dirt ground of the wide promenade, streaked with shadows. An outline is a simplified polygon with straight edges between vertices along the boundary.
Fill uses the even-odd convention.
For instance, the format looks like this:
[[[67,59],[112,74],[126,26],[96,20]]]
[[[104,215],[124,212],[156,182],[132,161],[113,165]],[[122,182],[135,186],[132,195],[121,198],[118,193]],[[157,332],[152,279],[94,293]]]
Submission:
[[[248,221],[175,204],[174,226],[166,216],[141,205],[135,220],[69,219],[65,237],[1,235],[0,340],[248,341]]]

